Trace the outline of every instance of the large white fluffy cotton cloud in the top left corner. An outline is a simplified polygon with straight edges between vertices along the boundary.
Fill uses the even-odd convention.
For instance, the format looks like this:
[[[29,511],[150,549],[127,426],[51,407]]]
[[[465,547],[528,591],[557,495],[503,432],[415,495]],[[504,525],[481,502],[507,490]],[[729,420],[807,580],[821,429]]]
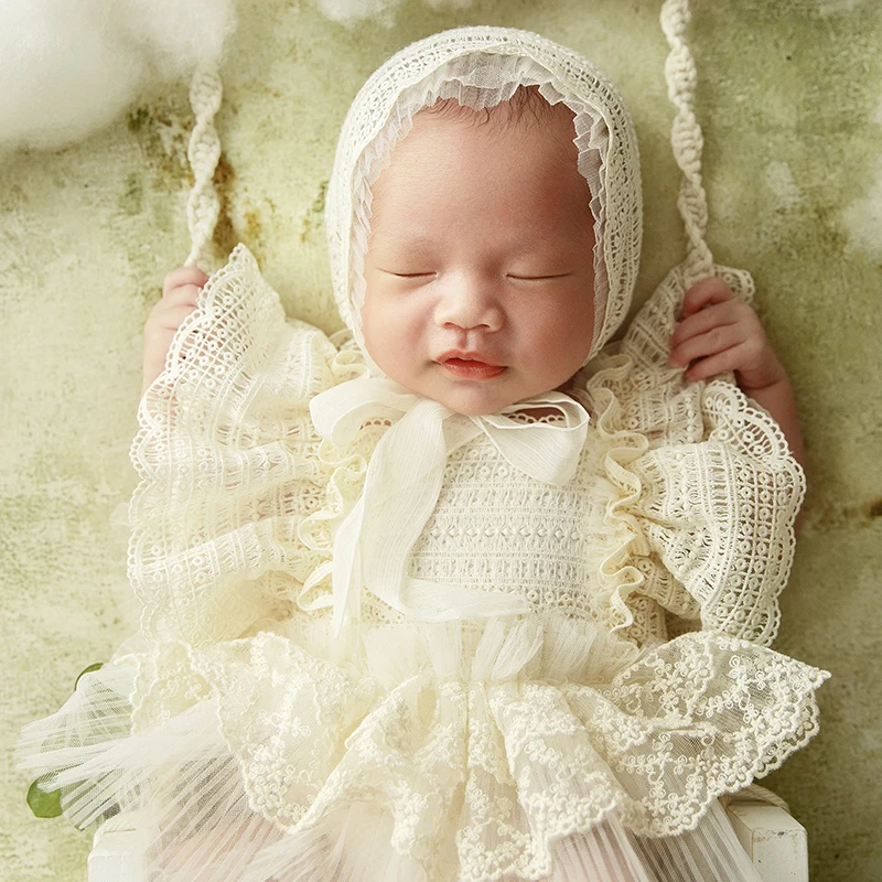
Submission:
[[[54,148],[219,58],[234,0],[2,0],[0,148]]]

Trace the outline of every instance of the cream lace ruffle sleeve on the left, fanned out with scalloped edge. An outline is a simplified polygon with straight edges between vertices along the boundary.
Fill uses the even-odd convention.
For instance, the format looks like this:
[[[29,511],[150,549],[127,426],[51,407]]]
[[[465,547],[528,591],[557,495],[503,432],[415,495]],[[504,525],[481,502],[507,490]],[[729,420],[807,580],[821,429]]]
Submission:
[[[357,373],[321,331],[286,320],[238,246],[139,407],[129,579],[144,636],[206,645],[290,614],[330,556],[299,537],[334,472],[309,400]]]

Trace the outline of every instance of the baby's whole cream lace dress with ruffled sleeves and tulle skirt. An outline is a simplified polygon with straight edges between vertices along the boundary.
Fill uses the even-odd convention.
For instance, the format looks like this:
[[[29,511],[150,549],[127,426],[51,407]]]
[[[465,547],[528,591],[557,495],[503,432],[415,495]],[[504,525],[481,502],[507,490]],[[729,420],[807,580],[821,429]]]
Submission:
[[[599,260],[613,299],[621,260]],[[685,287],[674,270],[577,376],[566,481],[486,427],[449,444],[424,523],[399,513],[404,581],[501,606],[415,615],[367,588],[341,603],[334,571],[406,417],[320,435],[316,399],[374,373],[357,323],[287,320],[239,246],[141,404],[141,634],[20,755],[75,822],[128,813],[150,880],[755,879],[719,797],[813,736],[827,675],[767,648],[803,475],[730,380],[667,367]],[[567,417],[509,419],[529,448]]]

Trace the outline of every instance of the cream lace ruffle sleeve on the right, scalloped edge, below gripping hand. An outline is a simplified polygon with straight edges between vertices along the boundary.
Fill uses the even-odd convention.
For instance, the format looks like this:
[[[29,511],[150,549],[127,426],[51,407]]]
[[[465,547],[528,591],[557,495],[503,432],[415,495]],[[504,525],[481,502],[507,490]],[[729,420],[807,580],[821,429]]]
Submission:
[[[751,299],[747,273],[716,269]],[[731,376],[688,383],[668,366],[684,290],[678,268],[585,386],[621,492],[611,514],[635,537],[642,581],[628,604],[658,603],[669,632],[700,626],[770,645],[805,478],[777,423]]]

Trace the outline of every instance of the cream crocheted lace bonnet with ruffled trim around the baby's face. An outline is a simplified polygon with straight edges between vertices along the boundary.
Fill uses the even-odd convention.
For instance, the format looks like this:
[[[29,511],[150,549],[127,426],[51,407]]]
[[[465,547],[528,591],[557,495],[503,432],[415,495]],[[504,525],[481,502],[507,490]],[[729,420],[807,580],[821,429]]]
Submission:
[[[372,373],[361,308],[370,224],[370,187],[413,116],[439,99],[475,110],[536,86],[551,105],[574,115],[579,171],[594,218],[594,330],[589,358],[627,313],[637,275],[642,197],[637,142],[621,96],[588,60],[527,31],[460,28],[401,50],[365,83],[349,108],[327,191],[325,223],[334,297]]]

